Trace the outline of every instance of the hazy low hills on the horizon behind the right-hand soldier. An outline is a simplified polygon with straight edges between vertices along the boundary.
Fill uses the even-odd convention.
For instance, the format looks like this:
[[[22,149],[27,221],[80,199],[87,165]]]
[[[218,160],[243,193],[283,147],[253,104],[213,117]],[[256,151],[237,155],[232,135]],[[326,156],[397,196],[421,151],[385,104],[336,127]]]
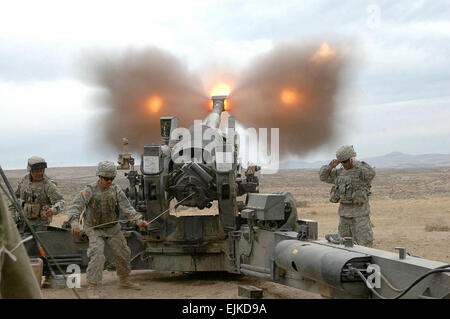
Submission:
[[[363,158],[363,161],[377,168],[414,168],[414,167],[439,167],[450,166],[450,154],[421,154],[411,155],[400,152],[392,152],[382,156]],[[280,164],[281,169],[296,168],[320,168],[328,164],[327,161],[304,162],[289,161]]]

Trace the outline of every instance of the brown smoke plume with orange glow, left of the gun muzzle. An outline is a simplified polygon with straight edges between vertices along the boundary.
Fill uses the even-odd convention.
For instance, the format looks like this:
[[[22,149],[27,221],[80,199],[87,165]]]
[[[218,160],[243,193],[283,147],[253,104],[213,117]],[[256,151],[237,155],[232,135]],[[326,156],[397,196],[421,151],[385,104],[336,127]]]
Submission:
[[[121,149],[122,137],[130,151],[161,142],[159,118],[176,116],[189,127],[207,113],[208,97],[200,79],[176,57],[157,48],[91,60],[94,83],[104,89],[109,110],[102,119],[106,140]]]

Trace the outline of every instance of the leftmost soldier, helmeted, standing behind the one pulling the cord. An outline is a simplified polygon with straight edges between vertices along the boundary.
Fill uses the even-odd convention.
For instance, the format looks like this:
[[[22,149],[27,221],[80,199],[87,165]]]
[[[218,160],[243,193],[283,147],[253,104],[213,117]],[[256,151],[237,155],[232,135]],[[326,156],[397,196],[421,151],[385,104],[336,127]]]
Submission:
[[[16,190],[23,210],[35,231],[45,231],[52,221],[52,216],[64,209],[64,199],[56,188],[56,183],[45,175],[47,163],[42,157],[32,156],[28,159],[29,172]],[[10,209],[15,210],[14,206]]]

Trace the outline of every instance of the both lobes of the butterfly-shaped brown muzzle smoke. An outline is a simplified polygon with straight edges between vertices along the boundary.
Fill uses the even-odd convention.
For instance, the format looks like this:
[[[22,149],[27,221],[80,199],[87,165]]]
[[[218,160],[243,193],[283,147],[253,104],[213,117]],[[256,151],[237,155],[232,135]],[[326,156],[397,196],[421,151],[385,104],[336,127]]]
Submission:
[[[217,79],[197,76],[165,51],[128,51],[93,62],[94,82],[104,89],[109,110],[104,133],[118,150],[122,137],[128,137],[132,151],[160,143],[161,116],[176,116],[181,127],[189,127],[208,114],[207,92]],[[280,156],[304,155],[335,133],[347,62],[326,43],[280,44],[237,76],[227,75],[234,87],[229,113],[245,127],[278,127]]]

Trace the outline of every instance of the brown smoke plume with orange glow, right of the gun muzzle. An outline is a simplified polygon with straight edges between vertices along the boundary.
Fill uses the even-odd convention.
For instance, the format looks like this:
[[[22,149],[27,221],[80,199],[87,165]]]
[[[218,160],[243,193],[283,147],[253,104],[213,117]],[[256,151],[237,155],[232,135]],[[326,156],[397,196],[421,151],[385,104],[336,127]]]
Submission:
[[[346,61],[327,44],[284,44],[242,73],[230,99],[245,126],[280,129],[280,155],[304,155],[334,134]]]

